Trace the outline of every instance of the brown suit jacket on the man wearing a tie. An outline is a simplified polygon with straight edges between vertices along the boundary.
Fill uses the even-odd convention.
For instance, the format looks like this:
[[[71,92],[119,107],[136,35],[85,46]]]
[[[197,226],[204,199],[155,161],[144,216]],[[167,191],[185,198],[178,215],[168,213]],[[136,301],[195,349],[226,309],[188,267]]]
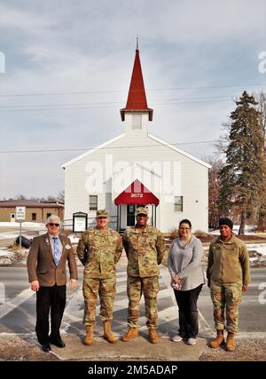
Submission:
[[[66,260],[68,262],[70,279],[77,279],[77,267],[74,250],[69,238],[59,234],[62,244],[62,255],[59,265],[53,260],[49,234],[35,237],[27,256],[28,281],[39,280],[42,287],[52,287],[55,284],[66,284]]]

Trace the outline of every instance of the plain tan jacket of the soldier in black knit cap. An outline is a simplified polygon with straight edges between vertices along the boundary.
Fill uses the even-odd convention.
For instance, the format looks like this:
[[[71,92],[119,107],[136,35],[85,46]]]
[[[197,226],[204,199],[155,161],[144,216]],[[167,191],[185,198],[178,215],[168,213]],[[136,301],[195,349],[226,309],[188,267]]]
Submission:
[[[211,242],[208,250],[207,280],[221,283],[249,284],[249,256],[245,242],[232,235],[223,242],[221,237]]]

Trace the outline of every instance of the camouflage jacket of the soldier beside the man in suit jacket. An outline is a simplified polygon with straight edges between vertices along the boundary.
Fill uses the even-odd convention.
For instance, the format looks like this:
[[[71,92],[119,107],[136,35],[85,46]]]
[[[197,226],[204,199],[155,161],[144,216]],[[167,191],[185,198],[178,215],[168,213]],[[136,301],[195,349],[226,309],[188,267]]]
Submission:
[[[102,232],[98,227],[82,234],[76,252],[84,265],[87,278],[110,278],[122,253],[121,235],[111,228]]]

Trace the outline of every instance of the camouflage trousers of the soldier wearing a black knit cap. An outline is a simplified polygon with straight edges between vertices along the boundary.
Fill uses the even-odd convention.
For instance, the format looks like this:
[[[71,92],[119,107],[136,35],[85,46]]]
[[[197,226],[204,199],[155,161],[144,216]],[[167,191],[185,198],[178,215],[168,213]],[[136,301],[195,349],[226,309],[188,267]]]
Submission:
[[[211,280],[211,298],[214,304],[215,329],[224,329],[224,310],[226,329],[237,333],[239,329],[239,303],[241,302],[242,283],[221,284]]]

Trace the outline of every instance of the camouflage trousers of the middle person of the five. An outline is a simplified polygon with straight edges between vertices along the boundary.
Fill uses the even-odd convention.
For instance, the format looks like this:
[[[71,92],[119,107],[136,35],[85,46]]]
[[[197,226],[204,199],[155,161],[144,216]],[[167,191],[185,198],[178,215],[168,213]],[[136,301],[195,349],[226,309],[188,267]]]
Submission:
[[[137,328],[139,302],[142,293],[145,296],[145,317],[147,318],[147,328],[157,328],[157,294],[159,292],[158,276],[148,278],[129,276],[127,292],[129,296],[129,328]]]

